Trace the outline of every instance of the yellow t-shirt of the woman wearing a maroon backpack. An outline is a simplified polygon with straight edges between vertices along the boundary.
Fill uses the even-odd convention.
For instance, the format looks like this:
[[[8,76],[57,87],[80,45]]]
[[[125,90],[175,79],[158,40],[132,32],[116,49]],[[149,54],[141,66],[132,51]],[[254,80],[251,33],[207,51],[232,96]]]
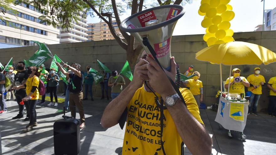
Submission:
[[[38,88],[39,86],[39,78],[37,76],[33,76],[33,77],[29,77],[26,81],[26,94],[28,95],[31,90],[32,90],[32,87],[33,86],[36,86]],[[38,89],[36,89],[34,91],[34,93],[31,95],[31,100],[38,100],[39,99],[39,91]]]

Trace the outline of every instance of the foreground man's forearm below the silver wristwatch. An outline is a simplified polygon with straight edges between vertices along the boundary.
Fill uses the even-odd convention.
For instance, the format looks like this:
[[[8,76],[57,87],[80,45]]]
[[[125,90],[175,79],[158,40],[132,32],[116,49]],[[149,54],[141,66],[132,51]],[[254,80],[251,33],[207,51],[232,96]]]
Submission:
[[[163,96],[164,97],[164,96]],[[168,107],[177,131],[192,154],[210,155],[212,140],[204,126],[188,111],[183,102],[178,99],[174,106]]]

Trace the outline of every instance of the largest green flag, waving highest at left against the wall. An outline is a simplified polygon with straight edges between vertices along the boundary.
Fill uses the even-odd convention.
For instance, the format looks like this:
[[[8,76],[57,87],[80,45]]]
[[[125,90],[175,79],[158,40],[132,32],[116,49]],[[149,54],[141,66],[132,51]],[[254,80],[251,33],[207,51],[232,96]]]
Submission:
[[[39,49],[26,62],[30,66],[38,67],[53,56],[45,43],[40,43],[38,41],[34,42],[39,46]]]

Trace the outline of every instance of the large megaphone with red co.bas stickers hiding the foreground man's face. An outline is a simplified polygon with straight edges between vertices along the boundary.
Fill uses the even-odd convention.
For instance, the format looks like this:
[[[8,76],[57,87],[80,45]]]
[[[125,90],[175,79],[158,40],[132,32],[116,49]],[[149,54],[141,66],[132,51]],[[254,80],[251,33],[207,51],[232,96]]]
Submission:
[[[181,5],[163,5],[143,10],[126,18],[120,29],[130,33],[152,56],[150,49],[143,44],[146,38],[163,68],[170,70],[171,39],[173,29],[185,11]]]

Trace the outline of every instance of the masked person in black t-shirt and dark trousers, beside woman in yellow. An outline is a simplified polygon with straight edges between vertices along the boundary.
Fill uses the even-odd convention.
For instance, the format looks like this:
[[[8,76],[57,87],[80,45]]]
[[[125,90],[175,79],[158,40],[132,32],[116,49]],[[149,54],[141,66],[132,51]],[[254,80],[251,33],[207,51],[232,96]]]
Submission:
[[[8,90],[8,91],[12,91],[14,90],[14,95],[16,97],[16,101],[17,104],[19,106],[19,114],[17,114],[17,116],[13,117],[13,119],[18,119],[18,118],[22,118],[23,114],[24,114],[24,105],[27,104],[27,102],[24,102],[24,105],[21,105],[20,102],[22,101],[22,99],[24,97],[26,97],[26,89],[25,88],[21,88],[19,90],[15,90],[16,87],[14,86],[20,86],[20,85],[25,85],[29,74],[27,72],[27,70],[25,69],[25,63],[23,61],[19,61],[17,64],[17,70],[18,72],[16,73],[15,77],[14,77],[14,83],[11,86],[12,89]],[[30,115],[29,115],[29,109],[26,107],[26,111],[27,111],[27,116],[24,119],[24,121],[29,121],[30,119]]]

